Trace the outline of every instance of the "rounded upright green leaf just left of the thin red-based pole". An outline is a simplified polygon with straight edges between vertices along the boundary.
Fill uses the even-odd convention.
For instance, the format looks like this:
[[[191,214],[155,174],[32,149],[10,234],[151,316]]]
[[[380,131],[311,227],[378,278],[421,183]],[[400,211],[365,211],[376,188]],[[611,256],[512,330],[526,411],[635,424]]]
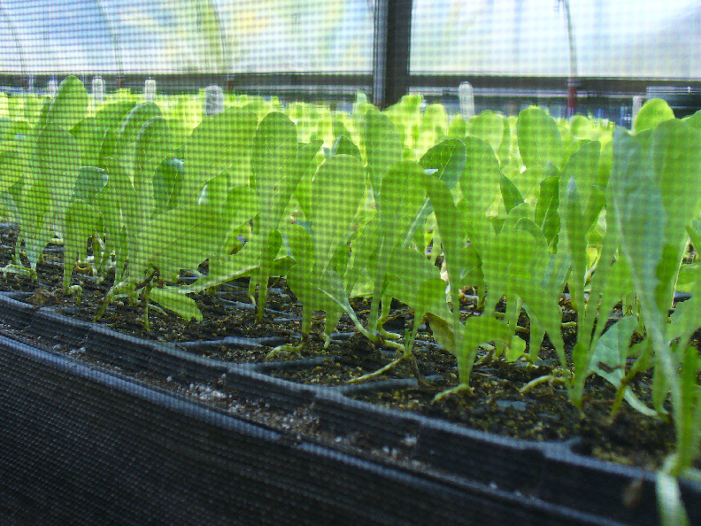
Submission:
[[[558,168],[562,166],[562,139],[558,125],[550,115],[538,107],[530,107],[519,113],[516,123],[519,137],[519,151],[526,167],[540,165],[548,161]]]

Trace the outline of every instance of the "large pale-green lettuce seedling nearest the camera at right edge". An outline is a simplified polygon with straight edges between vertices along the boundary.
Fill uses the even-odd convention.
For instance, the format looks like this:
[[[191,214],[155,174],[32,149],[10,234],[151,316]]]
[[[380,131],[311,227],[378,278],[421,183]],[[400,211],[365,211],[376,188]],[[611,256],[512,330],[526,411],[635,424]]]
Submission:
[[[621,388],[631,373],[647,367],[653,353],[655,409],[664,414],[663,402],[669,393],[677,434],[677,451],[666,471],[678,475],[698,453],[701,422],[697,415],[701,411],[697,407],[701,400],[696,382],[697,351],[670,344],[667,318],[688,243],[687,228],[701,210],[697,185],[701,134],[680,120],[664,120],[636,135],[618,128],[613,134],[613,155],[609,190],[615,228],[649,340],[636,366],[621,381]]]

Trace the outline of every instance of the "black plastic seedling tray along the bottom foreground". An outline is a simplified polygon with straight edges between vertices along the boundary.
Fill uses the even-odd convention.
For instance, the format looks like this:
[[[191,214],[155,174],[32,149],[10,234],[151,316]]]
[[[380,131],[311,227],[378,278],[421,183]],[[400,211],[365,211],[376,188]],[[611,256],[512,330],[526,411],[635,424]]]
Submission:
[[[650,471],[371,406],[345,396],[356,388],[266,374],[281,364],[198,358],[11,296],[0,321],[43,344],[0,336],[2,524],[659,524]],[[306,407],[337,438],[243,422],[134,373]],[[349,451],[358,436],[365,451]],[[701,484],[681,487],[701,523]]]

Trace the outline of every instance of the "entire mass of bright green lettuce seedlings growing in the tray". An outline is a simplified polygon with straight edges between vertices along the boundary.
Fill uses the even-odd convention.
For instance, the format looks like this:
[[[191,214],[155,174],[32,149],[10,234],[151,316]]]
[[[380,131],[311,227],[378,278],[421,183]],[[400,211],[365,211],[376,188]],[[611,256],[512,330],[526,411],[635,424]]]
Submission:
[[[289,350],[323,311],[327,341],[347,314],[369,341],[396,348],[397,362],[412,362],[428,320],[458,360],[451,392],[469,389],[480,348],[535,361],[547,335],[560,367],[537,382],[563,384],[582,408],[587,378],[604,377],[616,389],[614,414],[627,400],[672,419],[677,451],[666,471],[689,472],[701,435],[691,344],[701,280],[689,252],[701,246],[701,113],[677,120],[651,100],[630,133],[583,116],[558,122],[537,107],[518,119],[449,120],[440,104],[422,110],[420,96],[384,112],[361,99],[352,113],[261,104],[204,118],[190,108],[190,131],[172,107],[135,97],[91,111],[81,81],[68,77],[35,125],[15,120],[5,134],[0,192],[19,240],[4,272],[34,273],[60,236],[65,290],[80,289],[75,265],[113,267],[96,317],[127,297],[143,305],[147,329],[150,304],[201,319],[189,294],[244,276],[262,319],[269,279],[284,275],[304,306],[302,341]],[[204,261],[206,275],[179,284]],[[468,287],[483,313],[466,318]],[[691,297],[670,316],[677,289]],[[569,352],[565,290],[577,313]],[[359,295],[370,301],[366,324],[351,307]],[[414,313],[404,335],[383,329],[393,298]],[[622,315],[607,324],[617,306]],[[650,370],[648,406],[629,385]]]

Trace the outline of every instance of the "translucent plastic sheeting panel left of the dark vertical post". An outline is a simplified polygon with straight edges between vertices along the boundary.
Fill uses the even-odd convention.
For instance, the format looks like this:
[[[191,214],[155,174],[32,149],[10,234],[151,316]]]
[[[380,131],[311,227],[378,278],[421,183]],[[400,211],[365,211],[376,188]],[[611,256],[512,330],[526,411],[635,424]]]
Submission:
[[[370,73],[372,0],[4,0],[3,73]]]

